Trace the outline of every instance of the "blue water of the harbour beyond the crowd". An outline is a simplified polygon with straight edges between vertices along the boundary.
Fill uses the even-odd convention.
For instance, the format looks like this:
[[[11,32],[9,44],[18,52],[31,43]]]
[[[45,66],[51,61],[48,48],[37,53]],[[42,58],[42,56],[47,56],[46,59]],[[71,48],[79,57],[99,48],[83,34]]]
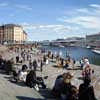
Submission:
[[[45,50],[50,50],[53,53],[62,52],[62,57],[66,58],[66,52],[69,53],[71,58],[75,60],[80,60],[82,57],[88,57],[91,64],[100,65],[100,55],[93,53],[90,49],[81,48],[81,47],[52,47],[52,46],[44,46]]]

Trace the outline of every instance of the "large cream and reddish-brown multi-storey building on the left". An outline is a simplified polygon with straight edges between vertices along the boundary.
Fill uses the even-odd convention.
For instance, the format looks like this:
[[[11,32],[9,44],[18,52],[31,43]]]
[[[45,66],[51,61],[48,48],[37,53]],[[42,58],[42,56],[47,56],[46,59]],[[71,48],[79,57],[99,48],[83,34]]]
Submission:
[[[20,25],[5,24],[0,26],[0,43],[23,43],[27,40],[27,33]]]

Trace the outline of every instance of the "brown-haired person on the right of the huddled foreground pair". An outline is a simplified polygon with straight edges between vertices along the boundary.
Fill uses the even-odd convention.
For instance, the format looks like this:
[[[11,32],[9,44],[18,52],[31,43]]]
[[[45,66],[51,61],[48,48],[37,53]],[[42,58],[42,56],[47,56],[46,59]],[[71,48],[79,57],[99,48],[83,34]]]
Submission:
[[[63,83],[61,85],[61,100],[78,100],[78,90],[76,86],[71,84],[72,75],[67,72],[63,75]]]

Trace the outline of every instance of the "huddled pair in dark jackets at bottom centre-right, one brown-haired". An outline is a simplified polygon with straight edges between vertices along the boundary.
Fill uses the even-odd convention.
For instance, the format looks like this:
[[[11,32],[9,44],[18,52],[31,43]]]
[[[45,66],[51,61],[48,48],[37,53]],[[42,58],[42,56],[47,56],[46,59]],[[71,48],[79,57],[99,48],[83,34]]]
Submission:
[[[78,91],[71,84],[71,79],[69,72],[59,75],[52,90],[53,95],[61,100],[78,100]]]

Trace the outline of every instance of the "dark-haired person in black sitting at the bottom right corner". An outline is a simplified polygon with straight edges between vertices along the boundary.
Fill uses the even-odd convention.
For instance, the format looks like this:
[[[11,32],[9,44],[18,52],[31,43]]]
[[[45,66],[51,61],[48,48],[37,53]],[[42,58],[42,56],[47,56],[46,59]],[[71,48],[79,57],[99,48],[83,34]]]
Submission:
[[[96,100],[90,77],[84,78],[84,83],[79,86],[79,100]]]

